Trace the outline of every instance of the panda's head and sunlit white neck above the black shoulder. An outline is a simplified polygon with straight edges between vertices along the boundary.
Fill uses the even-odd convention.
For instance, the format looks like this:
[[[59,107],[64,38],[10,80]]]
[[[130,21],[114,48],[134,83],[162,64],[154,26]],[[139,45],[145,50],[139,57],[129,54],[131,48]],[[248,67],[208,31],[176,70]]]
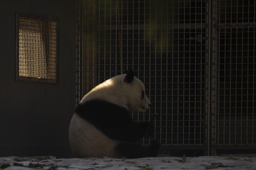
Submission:
[[[133,71],[112,77],[97,85],[80,103],[91,99],[105,100],[134,112],[145,112],[151,105],[145,94],[144,84],[134,76]]]

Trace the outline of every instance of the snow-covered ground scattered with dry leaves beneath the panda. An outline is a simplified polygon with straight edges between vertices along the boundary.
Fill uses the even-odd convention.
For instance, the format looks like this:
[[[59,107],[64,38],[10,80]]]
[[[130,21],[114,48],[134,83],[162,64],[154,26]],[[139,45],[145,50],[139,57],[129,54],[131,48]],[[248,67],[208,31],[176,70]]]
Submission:
[[[57,159],[54,156],[41,157],[0,157],[0,169],[223,169],[223,170],[256,170],[256,157],[227,157],[201,156],[201,157],[158,157],[140,159],[113,159],[113,158],[87,158],[87,159]]]

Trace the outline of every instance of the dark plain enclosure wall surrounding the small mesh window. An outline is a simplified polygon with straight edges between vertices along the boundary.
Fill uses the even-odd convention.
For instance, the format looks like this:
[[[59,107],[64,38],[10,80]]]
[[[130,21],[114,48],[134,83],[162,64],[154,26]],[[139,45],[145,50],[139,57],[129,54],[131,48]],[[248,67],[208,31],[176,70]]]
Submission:
[[[58,84],[15,81],[17,12],[58,19]],[[68,127],[76,107],[76,2],[1,0],[0,39],[0,157],[71,157]]]

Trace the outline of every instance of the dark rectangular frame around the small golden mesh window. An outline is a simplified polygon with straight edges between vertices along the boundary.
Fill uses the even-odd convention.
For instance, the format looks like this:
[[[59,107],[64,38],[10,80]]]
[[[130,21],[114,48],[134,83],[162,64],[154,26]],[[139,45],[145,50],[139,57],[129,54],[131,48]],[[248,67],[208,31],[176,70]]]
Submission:
[[[37,78],[37,77],[29,77],[29,76],[20,76],[20,68],[19,68],[19,30],[20,30],[20,18],[28,18],[28,19],[35,19],[35,20],[43,20],[43,21],[53,21],[56,22],[56,66],[55,66],[55,79],[49,79],[49,78]],[[27,13],[16,13],[16,81],[22,81],[22,82],[33,82],[33,83],[47,83],[47,84],[58,84],[58,49],[59,49],[59,21],[57,17],[50,17],[50,16],[42,16],[37,14],[27,14]],[[47,51],[47,54],[49,51]],[[49,57],[48,55],[46,57]],[[49,58],[47,58],[49,59]],[[47,73],[49,73],[47,66]]]

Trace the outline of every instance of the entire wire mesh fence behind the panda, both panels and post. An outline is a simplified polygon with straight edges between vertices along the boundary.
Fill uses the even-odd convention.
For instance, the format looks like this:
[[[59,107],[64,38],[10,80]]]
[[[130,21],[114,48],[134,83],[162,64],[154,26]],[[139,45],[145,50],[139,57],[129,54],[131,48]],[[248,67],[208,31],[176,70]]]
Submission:
[[[78,0],[77,102],[104,80],[133,69],[145,83],[152,103],[149,111],[133,113],[134,121],[148,121],[158,113],[155,136],[145,137],[142,144],[158,138],[165,147],[205,149],[209,143],[230,145],[224,140],[231,137],[232,128],[236,132],[240,128],[247,130],[247,136],[239,138],[235,134],[231,137],[235,144],[245,144],[243,138],[247,144],[255,145],[255,24],[227,26],[234,19],[233,13],[228,12],[228,1],[211,2]],[[244,14],[248,7],[253,15],[255,7],[251,5],[243,4],[241,12]],[[224,8],[226,11],[222,11]],[[215,18],[212,28],[209,12]],[[252,18],[248,22],[255,23]],[[209,39],[211,29],[214,40]],[[210,42],[213,53],[209,53]],[[240,47],[244,52],[240,52]],[[213,70],[209,75],[211,57]],[[234,74],[231,67],[235,68]],[[223,81],[225,78],[229,81]],[[213,91],[207,87],[209,81]],[[235,85],[234,89],[231,85]],[[207,105],[209,95],[212,103]],[[229,105],[231,99],[237,101],[234,106]],[[211,107],[210,113],[207,107]],[[242,118],[242,112],[246,118]],[[212,117],[208,125],[207,120]],[[210,125],[213,129],[207,131]],[[209,141],[209,136],[213,141]]]

